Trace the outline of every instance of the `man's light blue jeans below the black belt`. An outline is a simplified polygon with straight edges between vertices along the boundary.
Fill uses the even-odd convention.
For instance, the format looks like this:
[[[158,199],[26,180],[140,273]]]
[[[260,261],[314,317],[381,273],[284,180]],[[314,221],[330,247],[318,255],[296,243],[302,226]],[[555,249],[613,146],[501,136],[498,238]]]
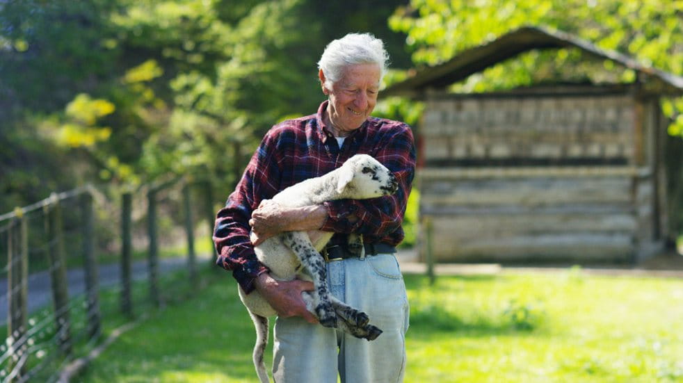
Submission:
[[[327,264],[335,297],[368,314],[383,333],[374,341],[303,318],[275,322],[273,377],[278,383],[403,382],[408,297],[394,254]]]

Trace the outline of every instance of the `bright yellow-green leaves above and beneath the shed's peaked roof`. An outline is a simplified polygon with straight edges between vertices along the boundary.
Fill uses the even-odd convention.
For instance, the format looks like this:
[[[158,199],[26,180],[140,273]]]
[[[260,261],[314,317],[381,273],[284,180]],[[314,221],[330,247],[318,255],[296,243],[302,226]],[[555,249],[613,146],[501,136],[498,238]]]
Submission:
[[[497,38],[524,25],[573,33],[598,47],[634,56],[673,74],[683,74],[683,3],[669,0],[412,0],[389,18],[418,65],[434,65],[458,52]],[[579,51],[531,51],[499,63],[453,86],[458,92],[509,89],[545,81],[632,82],[634,72],[615,63],[590,62]],[[664,113],[683,131],[683,99],[666,100]]]

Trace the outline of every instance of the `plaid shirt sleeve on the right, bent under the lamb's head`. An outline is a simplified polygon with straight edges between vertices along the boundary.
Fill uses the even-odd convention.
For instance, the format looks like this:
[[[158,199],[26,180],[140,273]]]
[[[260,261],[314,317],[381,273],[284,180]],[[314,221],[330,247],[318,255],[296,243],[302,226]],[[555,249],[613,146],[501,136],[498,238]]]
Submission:
[[[383,140],[382,149],[373,156],[396,176],[399,181],[396,193],[372,199],[325,202],[329,215],[321,230],[381,237],[400,229],[415,177],[415,142],[408,125],[400,124],[393,130]],[[351,215],[356,219],[349,220]]]

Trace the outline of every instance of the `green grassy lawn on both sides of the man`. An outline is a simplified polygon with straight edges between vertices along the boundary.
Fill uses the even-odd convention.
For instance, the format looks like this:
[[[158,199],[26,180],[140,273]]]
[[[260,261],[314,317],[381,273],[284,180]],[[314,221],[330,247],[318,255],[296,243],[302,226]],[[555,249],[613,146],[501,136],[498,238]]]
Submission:
[[[405,282],[405,382],[683,382],[681,279],[573,269]],[[255,382],[254,339],[225,272],[124,334],[77,381]]]

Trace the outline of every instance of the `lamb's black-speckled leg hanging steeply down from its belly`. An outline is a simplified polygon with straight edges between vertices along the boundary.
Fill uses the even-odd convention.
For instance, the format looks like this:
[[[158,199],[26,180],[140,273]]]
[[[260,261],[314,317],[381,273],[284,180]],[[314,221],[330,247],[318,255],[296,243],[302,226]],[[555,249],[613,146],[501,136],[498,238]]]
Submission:
[[[337,314],[330,302],[325,261],[313,247],[308,234],[304,231],[290,231],[282,236],[282,243],[296,254],[299,262],[313,278],[313,312],[318,316],[320,324],[325,327],[337,327]]]

